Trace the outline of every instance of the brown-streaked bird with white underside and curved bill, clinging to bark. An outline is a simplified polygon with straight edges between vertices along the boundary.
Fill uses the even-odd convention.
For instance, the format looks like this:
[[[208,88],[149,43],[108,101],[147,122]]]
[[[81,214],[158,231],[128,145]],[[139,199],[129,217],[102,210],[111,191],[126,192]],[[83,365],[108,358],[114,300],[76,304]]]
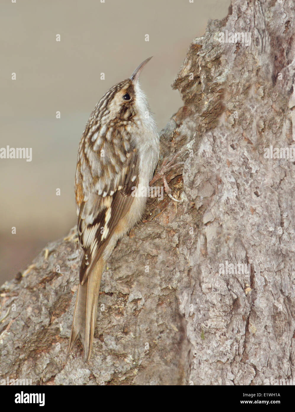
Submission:
[[[138,83],[150,59],[105,93],[79,144],[75,193],[81,260],[67,353],[80,337],[85,361],[91,355],[102,272],[118,239],[142,218],[146,197],[132,192],[149,186],[159,159],[156,123]]]

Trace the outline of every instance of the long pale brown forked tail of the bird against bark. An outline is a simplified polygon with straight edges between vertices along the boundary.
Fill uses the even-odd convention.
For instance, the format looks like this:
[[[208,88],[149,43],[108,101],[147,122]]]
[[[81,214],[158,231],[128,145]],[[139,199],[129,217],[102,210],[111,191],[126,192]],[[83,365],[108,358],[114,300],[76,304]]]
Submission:
[[[74,343],[80,337],[84,348],[84,361],[88,362],[95,330],[96,310],[102,272],[105,269],[105,260],[100,258],[83,285],[79,284],[74,309],[74,318],[67,356]]]

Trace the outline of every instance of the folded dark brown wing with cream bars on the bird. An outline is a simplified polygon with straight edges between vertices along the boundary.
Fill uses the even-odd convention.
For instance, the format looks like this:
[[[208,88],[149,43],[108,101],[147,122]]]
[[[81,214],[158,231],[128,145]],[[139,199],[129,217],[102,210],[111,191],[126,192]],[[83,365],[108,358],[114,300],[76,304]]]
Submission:
[[[125,147],[124,147],[125,149]],[[102,187],[98,179],[96,191],[88,193],[82,201],[78,215],[79,244],[82,249],[79,280],[86,281],[98,259],[102,256],[120,219],[128,213],[134,197],[132,187],[138,185],[139,160],[137,150],[118,150],[124,160],[120,172],[113,174]],[[109,168],[111,170],[111,168]],[[113,169],[114,170],[114,169]]]

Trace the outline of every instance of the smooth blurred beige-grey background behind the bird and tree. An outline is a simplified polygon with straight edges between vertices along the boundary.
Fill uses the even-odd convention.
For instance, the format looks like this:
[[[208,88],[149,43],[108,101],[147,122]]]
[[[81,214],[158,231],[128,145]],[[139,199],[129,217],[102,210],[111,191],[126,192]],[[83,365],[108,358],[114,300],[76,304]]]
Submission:
[[[0,159],[0,284],[76,224],[78,144],[109,87],[153,56],[141,85],[159,129],[182,105],[171,84],[186,50],[230,5],[190,1],[1,2],[0,147],[32,147],[33,159]]]

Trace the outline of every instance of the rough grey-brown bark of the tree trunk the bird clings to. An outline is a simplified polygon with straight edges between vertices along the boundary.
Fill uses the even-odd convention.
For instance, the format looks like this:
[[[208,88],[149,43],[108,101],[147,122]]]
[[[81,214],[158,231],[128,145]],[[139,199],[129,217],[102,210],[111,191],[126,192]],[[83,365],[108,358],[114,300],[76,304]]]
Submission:
[[[251,44],[220,43],[225,30],[250,32]],[[60,240],[0,290],[1,378],[256,385],[294,377],[294,159],[264,156],[295,140],[294,53],[291,0],[233,0],[225,19],[209,21],[173,84],[184,106],[161,137],[164,158],[183,150],[183,173],[167,174],[183,202],[150,199],[144,222],[118,243],[90,362],[77,343],[65,363],[78,260],[77,241]],[[226,262],[251,271],[222,274]]]

